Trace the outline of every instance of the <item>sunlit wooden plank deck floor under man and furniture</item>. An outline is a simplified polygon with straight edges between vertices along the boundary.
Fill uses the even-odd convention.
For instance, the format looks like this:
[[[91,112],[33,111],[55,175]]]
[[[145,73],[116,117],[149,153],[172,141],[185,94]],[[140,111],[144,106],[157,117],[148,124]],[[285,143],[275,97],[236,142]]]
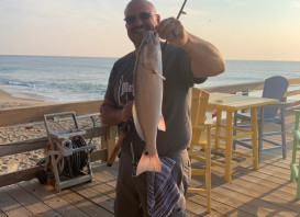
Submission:
[[[263,153],[258,170],[251,164],[233,169],[231,182],[224,171],[212,165],[212,213],[205,213],[205,197],[187,195],[187,216],[300,216],[297,185],[290,182],[292,128],[295,114],[287,112],[288,157],[280,150]],[[56,192],[41,185],[36,179],[0,189],[0,217],[22,216],[113,216],[118,163],[112,168],[95,162],[95,179],[90,183]],[[201,184],[201,179],[192,179]]]

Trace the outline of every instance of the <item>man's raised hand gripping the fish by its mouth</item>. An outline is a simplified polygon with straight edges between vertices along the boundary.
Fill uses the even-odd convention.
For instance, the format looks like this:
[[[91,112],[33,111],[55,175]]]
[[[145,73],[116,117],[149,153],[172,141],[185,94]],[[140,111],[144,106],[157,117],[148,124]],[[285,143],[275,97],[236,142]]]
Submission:
[[[155,31],[159,34],[160,38],[178,47],[185,46],[189,37],[180,21],[175,18],[160,21],[160,23],[155,26]]]

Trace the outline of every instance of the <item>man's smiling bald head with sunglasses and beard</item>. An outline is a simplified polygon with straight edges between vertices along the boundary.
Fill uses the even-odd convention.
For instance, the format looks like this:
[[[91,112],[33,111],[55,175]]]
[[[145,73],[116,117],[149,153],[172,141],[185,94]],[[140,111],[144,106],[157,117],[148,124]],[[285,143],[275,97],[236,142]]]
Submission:
[[[125,26],[127,35],[137,49],[143,41],[146,31],[154,31],[159,22],[154,7],[147,1],[135,1],[125,10]]]

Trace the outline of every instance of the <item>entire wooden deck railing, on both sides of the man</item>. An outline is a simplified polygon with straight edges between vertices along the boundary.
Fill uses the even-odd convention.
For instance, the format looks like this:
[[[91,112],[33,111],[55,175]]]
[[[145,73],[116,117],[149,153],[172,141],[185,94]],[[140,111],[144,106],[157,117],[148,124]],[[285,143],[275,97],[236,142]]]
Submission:
[[[252,82],[252,83],[242,83],[235,85],[222,85],[222,87],[212,87],[203,88],[208,92],[240,92],[243,94],[248,94],[253,91],[262,91],[264,88],[264,82]],[[286,99],[288,102],[288,108],[293,108],[300,105],[300,78],[289,79],[289,90],[286,93]],[[296,98],[297,100],[290,101],[290,98]],[[15,125],[25,125],[31,123],[41,123],[43,122],[44,114],[60,113],[60,112],[70,112],[74,111],[76,114],[81,117],[86,115],[91,115],[98,113],[101,105],[101,100],[84,101],[84,102],[74,102],[74,103],[60,103],[60,104],[49,104],[43,106],[33,106],[33,107],[19,107],[11,110],[0,111],[0,130],[1,127],[15,126]],[[101,160],[105,162],[108,156],[111,155],[113,147],[115,146],[116,138],[116,128],[108,126],[98,126],[95,129],[96,134],[92,134],[92,129],[87,129],[87,139],[91,137],[101,137],[102,149],[93,151],[91,155],[91,161]],[[47,136],[20,140],[16,142],[10,144],[0,144],[0,157],[21,153],[25,151],[43,149],[48,142]],[[103,148],[104,147],[104,148]],[[32,180],[36,176],[36,172],[40,170],[38,167],[29,168],[25,170],[7,173],[0,175],[0,187],[21,181]]]

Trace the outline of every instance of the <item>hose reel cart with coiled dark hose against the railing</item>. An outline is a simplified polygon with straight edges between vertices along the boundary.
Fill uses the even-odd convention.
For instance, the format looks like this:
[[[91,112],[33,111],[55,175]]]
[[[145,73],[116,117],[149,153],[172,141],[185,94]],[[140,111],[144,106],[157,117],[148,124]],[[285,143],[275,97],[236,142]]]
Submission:
[[[51,125],[58,125],[62,116],[71,116],[74,127],[68,129],[51,129]],[[48,144],[46,158],[40,162],[44,169],[38,171],[41,184],[51,180],[57,191],[92,180],[90,153],[96,145],[87,144],[79,129],[75,112],[45,114],[44,123],[47,130]],[[57,126],[56,126],[57,127]]]

